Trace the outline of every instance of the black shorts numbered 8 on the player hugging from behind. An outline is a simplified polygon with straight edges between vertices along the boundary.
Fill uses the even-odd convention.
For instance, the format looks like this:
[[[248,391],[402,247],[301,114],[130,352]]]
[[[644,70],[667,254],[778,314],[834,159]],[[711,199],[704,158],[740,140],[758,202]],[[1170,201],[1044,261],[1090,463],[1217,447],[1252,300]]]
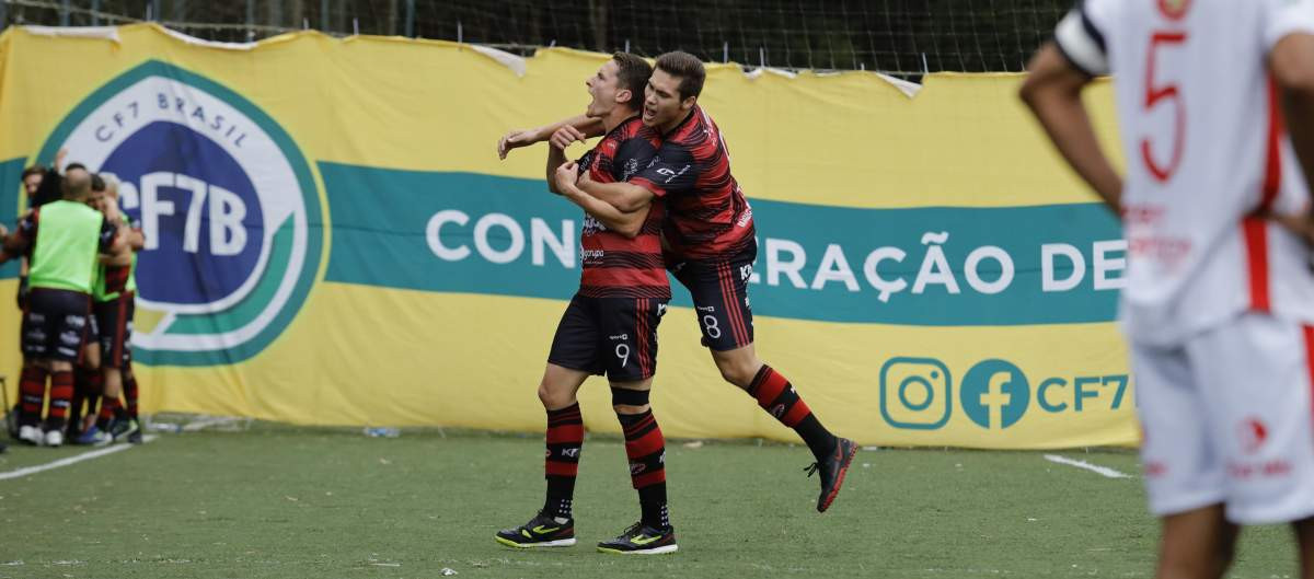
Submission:
[[[753,343],[753,309],[748,301],[748,278],[753,276],[757,244],[728,259],[670,259],[666,267],[689,289],[698,314],[703,345],[717,352]]]

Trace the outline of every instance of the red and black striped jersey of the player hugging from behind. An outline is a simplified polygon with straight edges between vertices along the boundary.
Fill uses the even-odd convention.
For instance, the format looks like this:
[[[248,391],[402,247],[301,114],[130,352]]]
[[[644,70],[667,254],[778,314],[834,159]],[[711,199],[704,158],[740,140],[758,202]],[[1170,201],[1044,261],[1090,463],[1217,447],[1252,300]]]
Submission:
[[[662,138],[629,182],[666,201],[666,242],[681,257],[721,259],[756,243],[753,207],[731,175],[725,139],[702,106]]]

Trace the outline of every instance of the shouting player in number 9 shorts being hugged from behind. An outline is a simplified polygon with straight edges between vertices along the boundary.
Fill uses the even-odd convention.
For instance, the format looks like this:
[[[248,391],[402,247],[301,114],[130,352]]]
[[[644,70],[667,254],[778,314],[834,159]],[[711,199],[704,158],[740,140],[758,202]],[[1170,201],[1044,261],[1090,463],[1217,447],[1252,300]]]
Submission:
[[[618,53],[589,77],[585,84],[593,100],[586,114],[602,121],[606,137],[579,163],[566,161],[565,148],[583,140],[582,133],[562,126],[551,138],[548,186],[587,213],[579,235],[582,274],[579,291],[557,326],[539,386],[548,412],[547,500],[530,523],[497,533],[503,545],[576,544],[570,507],[583,445],[576,394],[590,374],[606,374],[641,515],[639,523],[598,549],[623,554],[677,549],[666,509],[666,445],[648,403],[657,369],[657,324],[670,301],[661,252],[662,204],[649,198],[622,211],[577,186],[581,176],[624,181],[652,159],[657,135],[639,117],[650,72],[644,59]]]

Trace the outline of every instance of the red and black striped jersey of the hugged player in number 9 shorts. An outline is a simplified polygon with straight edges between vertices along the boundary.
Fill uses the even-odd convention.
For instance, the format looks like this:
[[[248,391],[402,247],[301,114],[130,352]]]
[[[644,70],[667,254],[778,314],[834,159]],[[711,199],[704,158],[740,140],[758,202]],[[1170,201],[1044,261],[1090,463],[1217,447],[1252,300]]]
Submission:
[[[579,171],[598,182],[625,181],[657,152],[657,133],[632,117],[607,133],[579,159]],[[665,204],[654,198],[635,239],[585,215],[579,232],[579,294],[590,298],[670,299],[670,281],[661,253]]]

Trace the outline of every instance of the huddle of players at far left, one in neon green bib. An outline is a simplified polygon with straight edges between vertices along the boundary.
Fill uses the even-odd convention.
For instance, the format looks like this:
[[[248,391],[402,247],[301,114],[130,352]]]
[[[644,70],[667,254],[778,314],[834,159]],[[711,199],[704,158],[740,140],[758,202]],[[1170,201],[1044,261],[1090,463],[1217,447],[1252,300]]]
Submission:
[[[29,209],[13,232],[0,225],[0,263],[22,260],[22,374],[9,435],[38,446],[141,442],[129,343],[135,252],[146,240],[120,210],[114,179],[62,167],[64,156],[22,172]]]

